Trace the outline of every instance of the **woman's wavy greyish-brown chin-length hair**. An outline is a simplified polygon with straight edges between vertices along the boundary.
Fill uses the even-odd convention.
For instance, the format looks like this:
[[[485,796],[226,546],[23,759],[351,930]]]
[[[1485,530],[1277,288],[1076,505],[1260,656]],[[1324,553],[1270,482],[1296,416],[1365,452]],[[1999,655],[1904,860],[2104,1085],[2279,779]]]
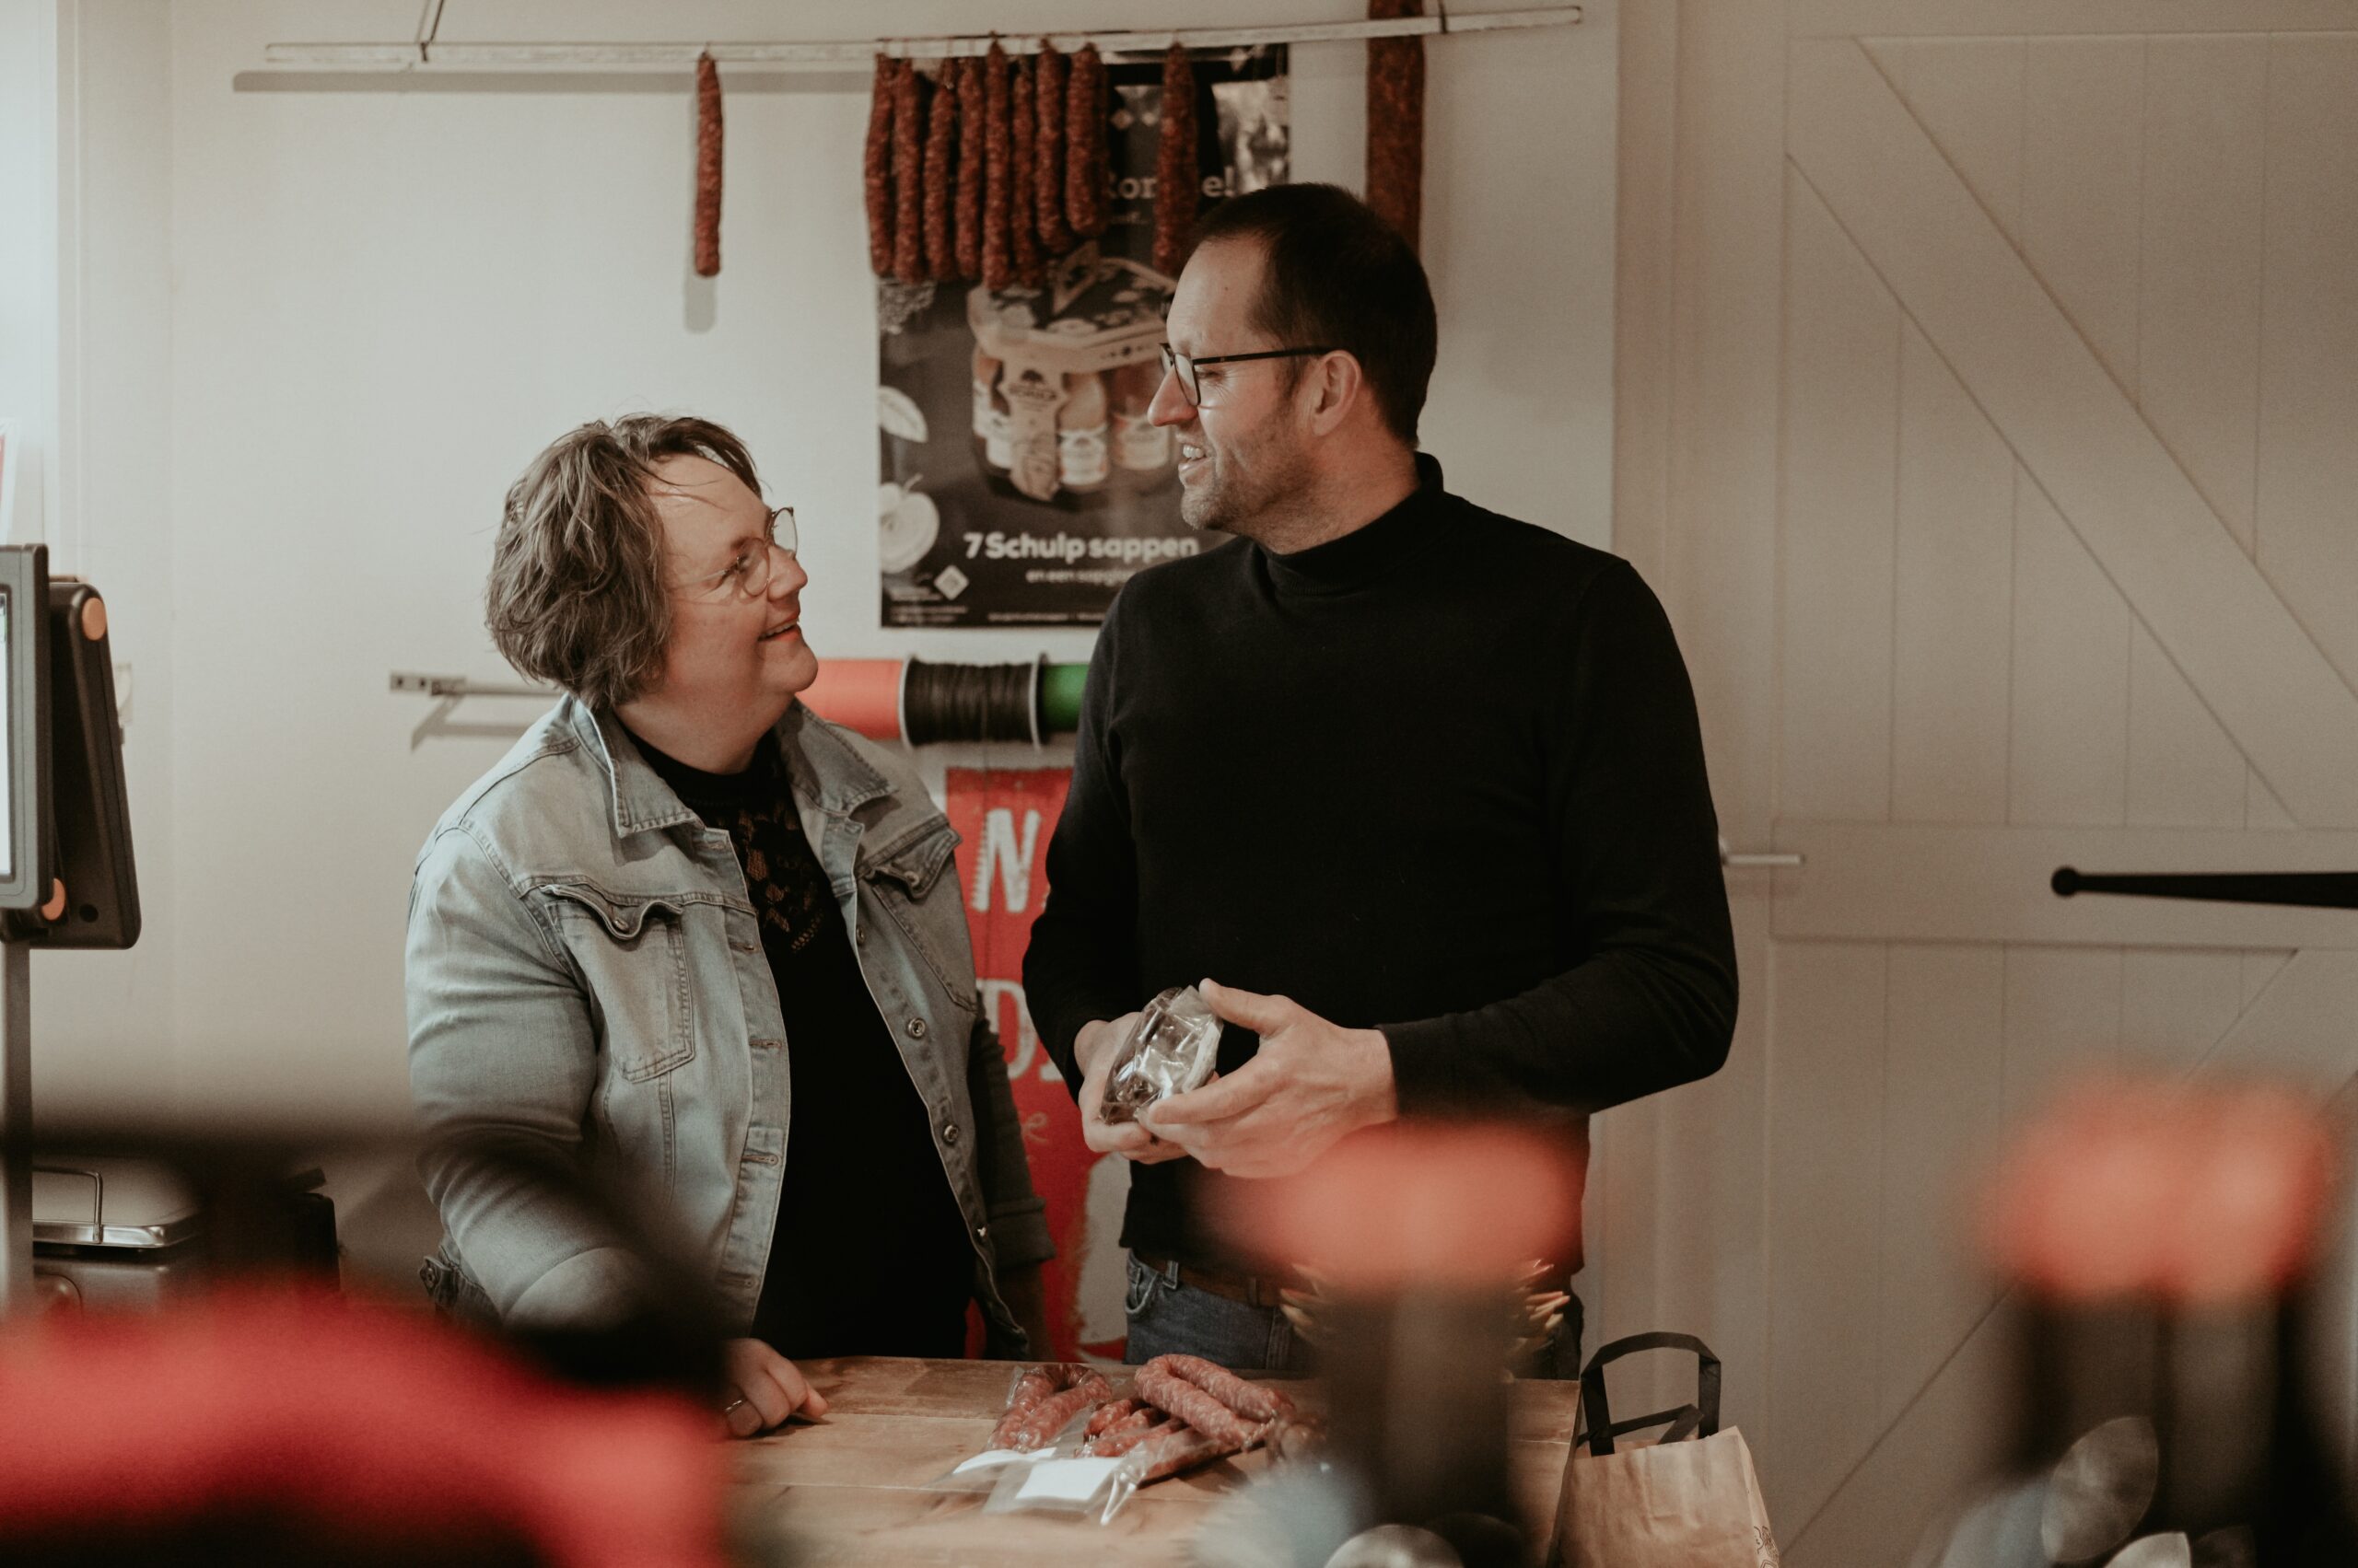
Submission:
[[[710,420],[627,415],[566,431],[507,488],[483,625],[509,665],[592,707],[632,700],[672,637],[656,465],[710,457],[755,495],[752,455]]]

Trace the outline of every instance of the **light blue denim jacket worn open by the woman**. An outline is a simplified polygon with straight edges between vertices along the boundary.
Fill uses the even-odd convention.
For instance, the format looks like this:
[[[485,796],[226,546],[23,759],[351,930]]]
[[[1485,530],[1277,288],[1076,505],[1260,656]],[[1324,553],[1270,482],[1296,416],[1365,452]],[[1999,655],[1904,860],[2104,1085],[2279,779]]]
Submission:
[[[776,733],[967,1217],[990,1337],[1021,1346],[995,1271],[1054,1247],[981,1016],[957,832],[903,757],[799,703]],[[410,884],[408,1014],[420,1172],[446,1226],[422,1271],[436,1302],[582,1323],[637,1278],[625,1250],[538,1203],[512,1162],[465,1153],[488,1141],[660,1200],[731,1332],[747,1332],[795,1111],[778,983],[729,835],[679,802],[611,712],[559,700],[434,825]],[[828,1259],[790,1252],[783,1266]]]

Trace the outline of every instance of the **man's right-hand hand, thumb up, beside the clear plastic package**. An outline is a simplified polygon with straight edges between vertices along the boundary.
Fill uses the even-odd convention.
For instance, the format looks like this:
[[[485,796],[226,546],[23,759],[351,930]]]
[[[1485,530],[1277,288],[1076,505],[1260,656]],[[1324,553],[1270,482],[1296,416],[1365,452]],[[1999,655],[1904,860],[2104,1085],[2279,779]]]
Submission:
[[[1146,1127],[1231,1177],[1290,1177],[1361,1127],[1401,1115],[1391,1047],[1285,997],[1203,981],[1203,1000],[1262,1037],[1252,1061],[1146,1108]]]

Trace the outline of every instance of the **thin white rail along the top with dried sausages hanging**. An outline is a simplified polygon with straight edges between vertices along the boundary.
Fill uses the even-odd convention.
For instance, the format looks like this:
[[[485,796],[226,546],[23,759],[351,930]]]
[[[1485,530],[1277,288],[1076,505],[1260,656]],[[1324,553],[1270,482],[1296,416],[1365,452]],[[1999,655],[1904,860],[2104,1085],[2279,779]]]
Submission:
[[[432,5],[439,24],[441,7]],[[1349,42],[1356,38],[1424,38],[1445,33],[1504,33],[1523,28],[1561,28],[1582,19],[1578,5],[1549,5],[1521,12],[1398,17],[1389,21],[1297,21],[1262,28],[1170,28],[1111,33],[1047,33],[1059,50],[1096,45],[1104,54],[1134,54],[1184,45],[1188,50],[1243,50],[1273,42]],[[983,54],[993,40],[1009,54],[1040,47],[1038,33],[969,33],[953,38],[842,38],[830,42],[441,42],[436,26],[420,26],[408,42],[274,42],[264,45],[264,68],[276,71],[681,71],[710,54],[722,66],[769,66],[778,71],[842,71],[865,66],[877,54],[908,59],[950,59]]]

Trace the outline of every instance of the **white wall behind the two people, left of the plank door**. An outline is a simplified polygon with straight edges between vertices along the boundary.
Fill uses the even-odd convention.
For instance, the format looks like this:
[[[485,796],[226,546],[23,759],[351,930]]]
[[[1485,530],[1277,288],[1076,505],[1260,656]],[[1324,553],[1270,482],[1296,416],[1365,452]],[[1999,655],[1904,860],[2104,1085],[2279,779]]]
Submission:
[[[460,717],[488,733],[413,745],[427,703],[391,696],[387,672],[502,674],[481,630],[498,500],[585,417],[674,408],[745,434],[806,519],[806,622],[825,655],[1087,655],[1087,632],[877,627],[865,71],[729,75],[724,271],[703,285],[686,78],[323,90],[337,83],[262,78],[264,45],[408,38],[415,0],[174,0],[167,59],[132,21],[165,7],[64,9],[83,26],[85,111],[106,104],[75,149],[73,288],[90,325],[66,380],[90,406],[68,505],[134,665],[149,934],[130,967],[75,955],[68,979],[64,955],[47,964],[45,1085],[85,1087],[75,1063],[113,1061],[92,1052],[137,1033],[167,1040],[172,1070],[108,1073],[108,1094],[304,1120],[403,1113],[410,858],[531,710],[469,703]],[[1269,7],[1198,0],[1186,17],[1266,21]],[[467,0],[443,38],[1170,19],[1141,0]],[[1613,7],[1592,5],[1582,28],[1438,40],[1429,75],[1424,250],[1443,349],[1427,446],[1471,498],[1601,542]],[[1361,47],[1299,47],[1295,174],[1358,184],[1361,134]],[[153,986],[167,995],[151,1007]]]

